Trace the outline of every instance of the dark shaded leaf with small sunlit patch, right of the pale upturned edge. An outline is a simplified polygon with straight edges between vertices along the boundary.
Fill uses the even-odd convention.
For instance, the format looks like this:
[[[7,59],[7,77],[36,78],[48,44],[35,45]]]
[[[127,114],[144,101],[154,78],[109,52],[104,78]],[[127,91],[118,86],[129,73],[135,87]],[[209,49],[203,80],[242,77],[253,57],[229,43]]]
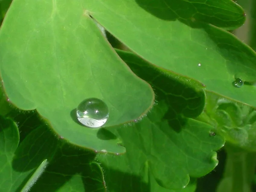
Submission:
[[[92,162],[95,153],[59,143],[55,158],[31,192],[106,192],[102,169]]]

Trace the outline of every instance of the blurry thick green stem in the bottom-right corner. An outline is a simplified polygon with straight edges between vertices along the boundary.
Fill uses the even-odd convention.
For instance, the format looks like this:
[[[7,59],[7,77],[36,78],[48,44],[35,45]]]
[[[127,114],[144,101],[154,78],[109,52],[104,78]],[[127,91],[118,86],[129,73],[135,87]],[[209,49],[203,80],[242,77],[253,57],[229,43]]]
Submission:
[[[251,192],[256,153],[226,145],[227,161],[224,171],[224,179],[218,192]]]

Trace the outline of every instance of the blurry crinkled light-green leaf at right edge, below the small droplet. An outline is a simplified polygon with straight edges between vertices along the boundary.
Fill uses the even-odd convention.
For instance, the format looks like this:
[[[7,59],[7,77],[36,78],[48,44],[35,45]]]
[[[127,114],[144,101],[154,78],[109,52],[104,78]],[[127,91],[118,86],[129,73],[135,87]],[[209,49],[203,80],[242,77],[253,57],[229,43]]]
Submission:
[[[215,125],[225,140],[247,151],[256,151],[256,109],[207,92],[205,109],[197,119]]]

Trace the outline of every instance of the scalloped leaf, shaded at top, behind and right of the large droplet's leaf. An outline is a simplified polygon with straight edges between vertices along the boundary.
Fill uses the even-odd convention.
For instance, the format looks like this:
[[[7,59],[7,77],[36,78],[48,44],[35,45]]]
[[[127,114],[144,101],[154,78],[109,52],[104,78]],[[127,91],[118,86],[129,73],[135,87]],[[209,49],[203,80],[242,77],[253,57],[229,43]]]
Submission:
[[[151,191],[148,177],[152,175],[158,185],[177,190],[189,183],[189,176],[209,173],[218,164],[214,151],[224,145],[224,139],[212,134],[214,127],[188,118],[198,116],[204,108],[203,86],[186,82],[185,77],[171,75],[132,53],[117,52],[134,73],[152,85],[157,103],[141,121],[117,129],[127,149],[125,155],[98,155],[103,169],[108,170],[108,189]],[[137,183],[137,177],[143,182]],[[125,180],[125,187],[111,180]]]

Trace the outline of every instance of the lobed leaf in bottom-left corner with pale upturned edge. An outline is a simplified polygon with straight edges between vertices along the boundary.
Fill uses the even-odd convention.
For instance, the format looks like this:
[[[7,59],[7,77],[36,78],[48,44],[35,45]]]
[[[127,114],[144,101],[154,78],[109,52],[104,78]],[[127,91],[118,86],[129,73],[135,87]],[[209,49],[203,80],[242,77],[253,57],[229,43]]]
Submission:
[[[12,121],[1,118],[0,122],[2,128],[7,130],[8,124],[6,123]],[[14,127],[10,127],[9,133],[3,129],[4,137],[1,139],[1,141],[13,142],[12,150],[2,151],[0,157],[0,177],[4,177],[1,178],[4,183],[2,183],[0,191],[5,192],[27,191],[44,171],[47,164],[45,159],[51,159],[56,147],[55,137],[49,131],[45,131],[45,127],[41,126],[32,131],[17,148],[18,130],[14,123],[13,125]],[[15,132],[17,132],[17,135],[14,135]],[[6,149],[10,148],[7,144],[5,144]],[[5,158],[3,158],[4,155]]]

